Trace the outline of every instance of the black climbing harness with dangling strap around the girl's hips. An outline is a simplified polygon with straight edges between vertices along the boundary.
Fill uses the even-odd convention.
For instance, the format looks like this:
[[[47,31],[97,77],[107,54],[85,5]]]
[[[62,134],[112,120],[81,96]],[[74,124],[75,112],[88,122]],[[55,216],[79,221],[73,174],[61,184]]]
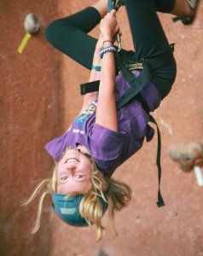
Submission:
[[[114,0],[108,0],[108,8],[110,6],[114,7]],[[109,9],[108,9],[109,11]],[[161,152],[161,137],[159,132],[159,126],[155,121],[154,117],[150,114],[150,109],[148,108],[148,103],[142,98],[141,94],[139,93],[144,86],[148,83],[148,81],[152,78],[154,69],[163,67],[169,62],[173,60],[173,51],[174,51],[174,44],[171,44],[171,50],[166,52],[163,55],[159,55],[156,57],[142,59],[141,61],[132,62],[129,61],[128,53],[121,49],[121,41],[119,36],[117,36],[117,41],[119,44],[119,50],[115,54],[115,58],[117,63],[119,63],[119,70],[123,73],[125,81],[130,84],[130,88],[125,91],[125,94],[121,96],[118,102],[116,102],[117,109],[122,108],[125,106],[126,103],[130,102],[132,98],[136,97],[138,101],[142,103],[142,108],[148,113],[149,115],[149,122],[154,123],[157,127],[157,158],[156,164],[158,168],[158,181],[159,181],[159,190],[158,190],[158,201],[157,206],[163,207],[165,206],[165,202],[160,193],[160,179],[161,179],[161,166],[160,166],[160,152]],[[141,73],[139,76],[135,76],[134,73],[131,73],[131,70],[140,70]],[[100,81],[93,81],[86,84],[80,85],[80,94],[84,95],[88,92],[98,91],[99,90],[99,83]]]

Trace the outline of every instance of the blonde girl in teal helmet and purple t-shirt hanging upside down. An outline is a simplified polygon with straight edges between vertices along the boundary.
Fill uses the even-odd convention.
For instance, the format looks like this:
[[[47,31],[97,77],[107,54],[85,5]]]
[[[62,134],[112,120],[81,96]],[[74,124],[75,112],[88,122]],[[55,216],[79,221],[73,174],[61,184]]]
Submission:
[[[149,142],[154,137],[154,129],[148,125],[149,112],[159,107],[176,79],[176,61],[156,12],[177,15],[189,25],[197,6],[198,1],[125,0],[136,52],[121,50],[120,56],[125,56],[127,62],[124,72],[116,57],[118,47],[114,46],[115,35],[121,35],[116,10],[107,14],[107,0],[47,27],[49,43],[90,69],[90,84],[97,80],[100,83],[99,91],[86,93],[68,131],[45,146],[55,160],[55,170],[53,177],[40,183],[27,201],[32,201],[45,186],[33,232],[39,228],[44,196],[51,194],[55,212],[67,224],[96,224],[99,241],[104,234],[102,217],[108,208],[109,222],[116,233],[114,211],[127,206],[131,188],[113,179],[113,172],[142,148],[145,138]],[[97,40],[88,33],[98,24]],[[150,67],[150,79],[143,84],[139,77],[147,70],[145,67]],[[133,74],[142,90],[118,107],[131,87],[124,73]]]

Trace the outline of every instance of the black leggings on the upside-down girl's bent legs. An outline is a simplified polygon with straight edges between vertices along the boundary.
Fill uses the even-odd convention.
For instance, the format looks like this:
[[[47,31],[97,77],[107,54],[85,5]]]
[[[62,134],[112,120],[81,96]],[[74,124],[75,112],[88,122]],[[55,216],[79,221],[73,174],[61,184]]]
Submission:
[[[174,3],[175,0],[125,0],[136,49],[133,60],[162,55],[171,50],[156,11],[170,13]],[[45,36],[56,49],[90,69],[97,39],[90,37],[88,32],[98,25],[100,20],[99,12],[89,7],[66,18],[54,20],[47,27]],[[159,90],[162,99],[171,90],[176,72],[175,60],[154,70],[151,81]]]

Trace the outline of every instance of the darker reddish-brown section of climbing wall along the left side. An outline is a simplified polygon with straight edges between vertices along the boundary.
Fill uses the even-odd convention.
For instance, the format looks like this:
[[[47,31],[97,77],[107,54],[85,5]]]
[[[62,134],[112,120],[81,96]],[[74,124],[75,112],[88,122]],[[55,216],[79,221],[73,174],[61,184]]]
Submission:
[[[49,255],[50,204],[46,204],[44,224],[36,236],[30,233],[37,202],[30,207],[20,204],[38,181],[49,176],[53,164],[44,143],[61,130],[61,61],[44,39],[44,26],[53,19],[57,6],[54,1],[0,4],[0,255]],[[20,55],[17,49],[26,33],[23,23],[30,13],[38,15],[43,28]]]

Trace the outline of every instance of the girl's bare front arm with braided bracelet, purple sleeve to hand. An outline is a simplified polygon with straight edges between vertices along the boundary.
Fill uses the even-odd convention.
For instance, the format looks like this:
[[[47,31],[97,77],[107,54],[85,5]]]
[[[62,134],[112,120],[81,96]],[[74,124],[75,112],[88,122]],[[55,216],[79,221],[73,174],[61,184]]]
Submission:
[[[117,109],[115,101],[115,63],[113,55],[113,38],[119,33],[116,11],[112,10],[101,20],[100,29],[103,49],[101,82],[96,108],[96,124],[112,131],[118,131]],[[110,47],[110,48],[109,48]],[[105,50],[109,49],[110,51]]]

